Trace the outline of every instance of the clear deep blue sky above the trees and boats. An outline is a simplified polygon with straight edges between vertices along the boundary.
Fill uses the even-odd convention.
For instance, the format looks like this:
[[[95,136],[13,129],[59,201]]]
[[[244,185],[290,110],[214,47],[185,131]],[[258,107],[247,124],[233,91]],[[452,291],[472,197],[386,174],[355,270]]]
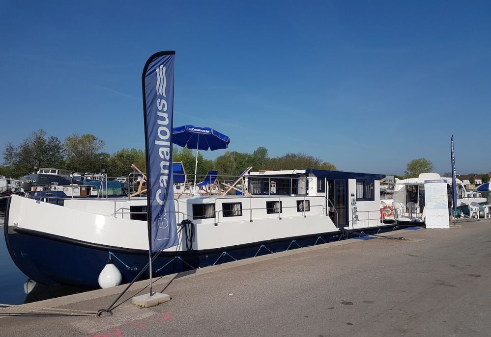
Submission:
[[[443,173],[454,133],[457,172],[491,170],[490,1],[0,0],[0,44],[0,151],[40,128],[144,148],[143,66],[175,50],[174,126],[231,151]]]

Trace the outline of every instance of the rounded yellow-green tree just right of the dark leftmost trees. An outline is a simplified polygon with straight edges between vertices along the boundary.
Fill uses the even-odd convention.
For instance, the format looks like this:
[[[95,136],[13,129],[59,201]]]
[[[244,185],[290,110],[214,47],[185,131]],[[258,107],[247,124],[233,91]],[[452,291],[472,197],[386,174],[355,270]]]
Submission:
[[[110,155],[101,150],[104,141],[93,134],[72,134],[65,138],[63,144],[67,168],[77,172],[101,172],[108,165]]]

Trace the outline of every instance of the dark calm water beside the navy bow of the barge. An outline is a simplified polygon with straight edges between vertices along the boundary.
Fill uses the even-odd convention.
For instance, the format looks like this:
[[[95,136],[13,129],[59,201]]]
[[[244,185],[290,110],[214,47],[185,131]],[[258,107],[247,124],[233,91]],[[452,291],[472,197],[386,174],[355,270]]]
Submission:
[[[4,212],[0,210],[0,303],[23,304],[41,301],[48,298],[83,292],[80,289],[68,286],[45,286],[36,284],[29,295],[24,292],[24,283],[28,277],[14,264],[8,254],[3,234]]]

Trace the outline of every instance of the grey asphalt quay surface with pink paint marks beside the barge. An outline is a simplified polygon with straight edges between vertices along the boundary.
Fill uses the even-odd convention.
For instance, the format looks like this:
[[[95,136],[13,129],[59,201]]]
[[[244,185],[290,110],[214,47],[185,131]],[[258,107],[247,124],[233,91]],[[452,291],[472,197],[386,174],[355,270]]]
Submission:
[[[3,317],[0,336],[491,336],[491,221],[459,225],[171,275],[154,285],[172,296],[157,307],[128,301],[102,318]],[[121,287],[29,305],[96,311]]]

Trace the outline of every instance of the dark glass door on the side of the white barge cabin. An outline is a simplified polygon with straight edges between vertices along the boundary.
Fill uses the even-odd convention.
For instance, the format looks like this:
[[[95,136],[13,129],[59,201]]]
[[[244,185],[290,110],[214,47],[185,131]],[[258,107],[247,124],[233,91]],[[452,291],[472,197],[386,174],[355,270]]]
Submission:
[[[348,193],[346,180],[327,180],[329,217],[331,218],[332,222],[334,222],[337,228],[347,226],[347,195]]]

